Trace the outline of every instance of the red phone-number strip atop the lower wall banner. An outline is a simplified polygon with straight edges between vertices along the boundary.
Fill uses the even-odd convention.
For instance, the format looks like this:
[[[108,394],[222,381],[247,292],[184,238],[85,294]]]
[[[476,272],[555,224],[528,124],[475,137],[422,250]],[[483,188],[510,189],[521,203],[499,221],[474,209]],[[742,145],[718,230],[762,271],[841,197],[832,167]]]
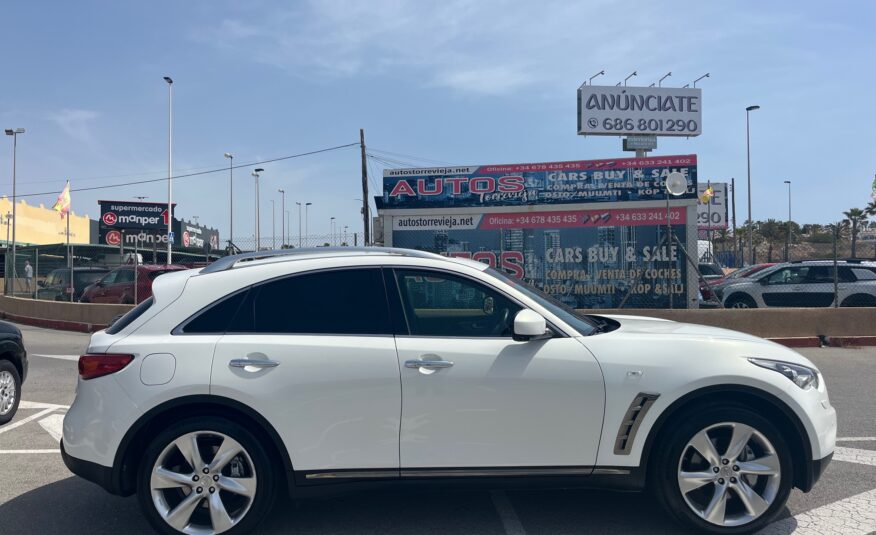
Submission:
[[[685,208],[672,208],[669,213],[670,222],[673,225],[687,222],[687,211]],[[484,214],[478,228],[639,227],[665,224],[665,208],[621,208]]]

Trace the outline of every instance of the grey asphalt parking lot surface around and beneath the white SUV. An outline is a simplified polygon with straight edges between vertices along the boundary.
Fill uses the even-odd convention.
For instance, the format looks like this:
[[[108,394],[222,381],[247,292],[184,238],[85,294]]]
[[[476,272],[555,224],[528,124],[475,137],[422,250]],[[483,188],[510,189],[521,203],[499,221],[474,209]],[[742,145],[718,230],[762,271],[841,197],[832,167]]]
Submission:
[[[0,533],[151,533],[135,497],[107,494],[67,471],[60,425],[89,336],[21,326],[30,355],[22,408],[0,427]],[[834,461],[815,489],[795,490],[763,533],[876,533],[876,348],[804,349],[839,414]],[[264,533],[361,534],[680,533],[643,494],[583,490],[369,492],[282,500]]]

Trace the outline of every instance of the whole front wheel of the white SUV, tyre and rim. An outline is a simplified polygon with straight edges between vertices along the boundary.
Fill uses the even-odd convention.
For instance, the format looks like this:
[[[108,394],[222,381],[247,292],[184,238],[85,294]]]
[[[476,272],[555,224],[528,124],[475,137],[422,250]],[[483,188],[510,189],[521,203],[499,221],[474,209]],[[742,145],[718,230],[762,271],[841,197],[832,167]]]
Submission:
[[[747,441],[739,440],[742,445],[731,448],[734,434],[744,437],[749,431]],[[691,531],[753,533],[788,501],[794,478],[791,450],[776,427],[754,410],[737,404],[706,405],[674,418],[661,436],[650,465],[651,490],[669,515]],[[713,449],[700,454],[693,444],[707,449],[704,437]],[[741,453],[735,455],[731,449]],[[754,469],[765,475],[746,473]],[[682,473],[698,475],[682,479]],[[717,507],[709,507],[719,496],[723,514],[720,500]]]

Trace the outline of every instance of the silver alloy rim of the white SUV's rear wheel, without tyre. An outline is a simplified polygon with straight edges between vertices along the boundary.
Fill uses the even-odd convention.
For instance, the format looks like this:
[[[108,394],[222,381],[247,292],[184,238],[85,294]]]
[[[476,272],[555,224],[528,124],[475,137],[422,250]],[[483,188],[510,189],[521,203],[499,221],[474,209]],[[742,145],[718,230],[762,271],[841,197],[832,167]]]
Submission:
[[[168,525],[191,535],[223,533],[249,512],[255,465],[239,442],[215,431],[186,433],[152,467],[152,503]]]

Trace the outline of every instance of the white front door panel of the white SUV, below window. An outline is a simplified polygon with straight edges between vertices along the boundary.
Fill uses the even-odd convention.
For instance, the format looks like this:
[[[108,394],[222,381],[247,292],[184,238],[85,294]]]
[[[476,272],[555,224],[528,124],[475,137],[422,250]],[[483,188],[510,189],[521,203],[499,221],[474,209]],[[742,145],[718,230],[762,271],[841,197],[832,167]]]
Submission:
[[[402,468],[593,466],[605,392],[574,338],[396,338]],[[448,368],[410,368],[421,359]]]

